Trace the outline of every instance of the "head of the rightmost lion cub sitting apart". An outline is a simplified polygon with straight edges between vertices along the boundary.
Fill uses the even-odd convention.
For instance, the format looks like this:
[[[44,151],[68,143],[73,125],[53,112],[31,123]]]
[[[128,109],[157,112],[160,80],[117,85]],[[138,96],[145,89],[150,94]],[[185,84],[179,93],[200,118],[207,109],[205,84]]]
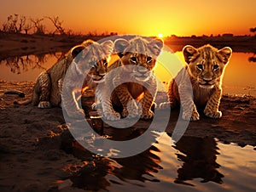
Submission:
[[[201,88],[213,88],[221,81],[225,65],[230,61],[232,49],[222,49],[205,45],[194,48],[187,45],[183,48],[185,61],[188,63],[189,75],[192,76]]]

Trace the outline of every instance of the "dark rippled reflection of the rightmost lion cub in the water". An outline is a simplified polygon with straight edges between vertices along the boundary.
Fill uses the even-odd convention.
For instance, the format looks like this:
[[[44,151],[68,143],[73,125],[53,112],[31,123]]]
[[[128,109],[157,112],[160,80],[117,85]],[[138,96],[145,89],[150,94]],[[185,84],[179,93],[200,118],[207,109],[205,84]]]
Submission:
[[[182,167],[177,169],[176,184],[189,184],[188,180],[202,178],[201,183],[209,181],[222,184],[224,175],[218,172],[220,165],[216,162],[218,153],[214,138],[183,137],[175,146],[177,159],[183,161]]]

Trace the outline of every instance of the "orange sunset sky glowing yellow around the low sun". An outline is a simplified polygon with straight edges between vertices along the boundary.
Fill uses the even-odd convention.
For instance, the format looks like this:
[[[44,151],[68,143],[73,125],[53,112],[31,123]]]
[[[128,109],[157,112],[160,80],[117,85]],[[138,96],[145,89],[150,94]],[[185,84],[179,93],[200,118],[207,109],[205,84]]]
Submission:
[[[255,8],[255,0],[1,0],[0,25],[9,14],[58,15],[65,29],[82,33],[244,35],[256,27]]]

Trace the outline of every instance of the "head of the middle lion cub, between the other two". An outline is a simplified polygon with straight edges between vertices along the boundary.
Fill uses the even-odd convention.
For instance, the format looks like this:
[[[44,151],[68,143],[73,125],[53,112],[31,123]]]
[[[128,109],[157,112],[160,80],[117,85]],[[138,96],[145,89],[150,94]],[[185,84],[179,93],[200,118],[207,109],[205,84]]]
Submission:
[[[130,41],[120,38],[114,42],[122,65],[136,65],[137,67],[132,67],[132,76],[142,82],[147,81],[150,71],[154,71],[156,58],[162,47],[161,40],[143,37],[135,37]]]

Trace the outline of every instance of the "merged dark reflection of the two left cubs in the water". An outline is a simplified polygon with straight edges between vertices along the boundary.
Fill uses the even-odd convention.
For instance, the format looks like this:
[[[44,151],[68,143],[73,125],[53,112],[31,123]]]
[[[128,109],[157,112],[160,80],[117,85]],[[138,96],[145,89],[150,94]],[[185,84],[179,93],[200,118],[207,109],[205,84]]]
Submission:
[[[159,165],[160,158],[154,155],[156,151],[159,150],[155,146],[152,146],[140,155],[113,160],[107,157],[93,155],[77,142],[74,142],[73,155],[83,160],[84,164],[79,167],[74,166],[75,168],[69,167],[69,169],[76,171],[76,174],[70,179],[74,187],[96,191],[107,189],[111,184],[121,184],[122,181],[128,183],[130,180],[159,182],[152,175],[152,172],[158,172],[162,168]],[[110,180],[107,178],[108,174],[114,175],[119,179]]]

